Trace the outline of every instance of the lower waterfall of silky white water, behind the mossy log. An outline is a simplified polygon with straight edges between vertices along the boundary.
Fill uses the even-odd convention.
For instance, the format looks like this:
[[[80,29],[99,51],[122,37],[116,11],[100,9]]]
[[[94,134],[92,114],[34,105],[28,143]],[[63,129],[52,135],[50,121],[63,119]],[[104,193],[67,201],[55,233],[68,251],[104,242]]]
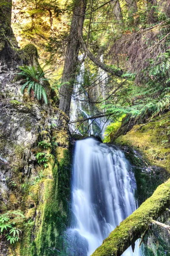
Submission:
[[[70,255],[90,256],[108,234],[135,210],[130,180],[122,151],[91,137],[76,142],[71,236],[78,234],[85,249],[79,253],[77,249],[77,253]],[[72,239],[72,244],[76,244],[75,239]],[[123,256],[138,256],[138,250],[136,246],[133,253],[130,247]]]

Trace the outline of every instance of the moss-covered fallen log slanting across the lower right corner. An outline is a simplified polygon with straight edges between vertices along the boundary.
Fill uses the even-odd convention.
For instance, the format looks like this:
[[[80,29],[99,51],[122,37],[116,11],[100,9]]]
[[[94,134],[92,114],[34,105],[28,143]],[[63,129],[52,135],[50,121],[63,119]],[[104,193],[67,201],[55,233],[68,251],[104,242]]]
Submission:
[[[170,206],[170,179],[113,230],[92,256],[121,256]]]

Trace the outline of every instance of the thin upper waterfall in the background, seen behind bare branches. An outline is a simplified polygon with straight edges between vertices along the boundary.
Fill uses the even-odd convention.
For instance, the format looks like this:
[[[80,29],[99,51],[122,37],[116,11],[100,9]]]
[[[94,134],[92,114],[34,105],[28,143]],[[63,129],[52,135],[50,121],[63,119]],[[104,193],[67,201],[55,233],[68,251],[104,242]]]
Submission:
[[[83,55],[80,55],[79,60],[82,60],[82,57]],[[102,56],[100,59],[102,61]],[[91,84],[93,84],[93,87],[91,87],[89,90],[83,87],[84,73],[85,64],[83,62],[74,83],[74,90],[71,98],[70,121],[75,121],[81,118],[89,118],[94,116],[94,114],[103,113],[104,111],[102,109],[98,109],[94,104],[91,104],[91,101],[99,101],[105,98],[105,90],[108,82],[107,73],[99,68],[97,77],[94,79],[93,76],[91,76]],[[101,117],[96,120],[89,119],[82,125],[82,130],[76,128],[75,124],[71,124],[70,131],[71,133],[79,133],[82,135],[85,133],[87,134],[88,131],[89,136],[92,134],[100,134],[102,136],[108,124],[106,122],[107,119],[107,117]]]

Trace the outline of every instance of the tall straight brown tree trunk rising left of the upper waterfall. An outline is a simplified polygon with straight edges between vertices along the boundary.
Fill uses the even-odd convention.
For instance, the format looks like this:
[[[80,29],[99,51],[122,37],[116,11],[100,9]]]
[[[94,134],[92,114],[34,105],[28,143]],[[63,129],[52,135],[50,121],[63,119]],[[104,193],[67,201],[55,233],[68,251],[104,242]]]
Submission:
[[[78,37],[78,20],[80,15],[80,1],[75,3],[71,21],[69,41],[65,54],[65,64],[62,74],[62,86],[59,90],[59,108],[69,116],[71,95],[73,91],[76,70],[78,66],[79,54],[79,37]],[[84,22],[84,16],[82,17]],[[64,83],[64,84],[63,84]]]

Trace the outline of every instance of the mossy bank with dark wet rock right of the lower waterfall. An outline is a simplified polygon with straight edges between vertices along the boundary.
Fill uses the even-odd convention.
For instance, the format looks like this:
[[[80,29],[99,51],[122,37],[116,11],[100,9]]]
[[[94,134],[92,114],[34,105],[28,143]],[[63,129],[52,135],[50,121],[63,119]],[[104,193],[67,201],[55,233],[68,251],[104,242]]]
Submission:
[[[132,165],[136,179],[135,198],[140,205],[170,177],[170,112],[146,124],[133,126],[114,143],[121,146]],[[169,211],[158,221],[170,225]],[[143,241],[142,256],[169,255],[170,241],[166,229],[152,225]]]

